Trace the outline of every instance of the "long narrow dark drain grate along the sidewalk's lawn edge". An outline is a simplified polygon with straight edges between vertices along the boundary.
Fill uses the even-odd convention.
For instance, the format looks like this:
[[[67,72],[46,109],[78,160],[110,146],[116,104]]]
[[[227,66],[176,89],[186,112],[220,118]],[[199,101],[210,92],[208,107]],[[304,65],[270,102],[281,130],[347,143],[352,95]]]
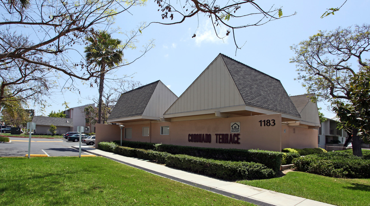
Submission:
[[[85,150],[85,151],[90,152],[91,154],[95,154],[95,155],[99,155],[99,156],[102,156],[102,157],[111,159],[111,160],[116,161],[116,162],[120,162],[120,163],[125,164],[125,165],[128,165],[128,166],[132,166],[134,168],[138,168],[138,169],[141,169],[141,170],[150,172],[150,173],[155,174],[155,175],[159,175],[159,176],[162,176],[162,177],[165,177],[165,178],[168,178],[168,179],[172,179],[172,180],[177,181],[177,182],[185,183],[186,185],[191,185],[191,186],[194,186],[194,187],[197,187],[197,188],[208,190],[210,192],[218,193],[220,195],[227,196],[229,198],[234,198],[234,199],[237,199],[237,200],[242,200],[242,201],[253,203],[253,204],[259,205],[259,206],[276,206],[276,205],[272,205],[270,203],[261,202],[259,200],[255,200],[255,199],[251,199],[251,198],[246,198],[244,196],[240,196],[240,195],[237,195],[237,194],[234,194],[234,193],[231,193],[231,192],[225,192],[225,191],[220,190],[220,189],[211,188],[209,186],[205,186],[205,185],[201,185],[201,184],[196,184],[194,182],[190,182],[190,181],[187,181],[187,180],[184,180],[184,179],[176,178],[174,176],[166,175],[166,174],[163,174],[161,172],[157,172],[157,171],[154,171],[154,170],[151,170],[151,169],[147,169],[147,168],[144,168],[144,167],[141,167],[141,166],[130,164],[128,162],[124,162],[124,161],[121,161],[121,160],[118,160],[118,159],[114,159],[114,158],[111,158],[111,157],[100,155],[100,154],[97,154],[95,152],[91,152],[91,151],[88,151],[88,150]]]

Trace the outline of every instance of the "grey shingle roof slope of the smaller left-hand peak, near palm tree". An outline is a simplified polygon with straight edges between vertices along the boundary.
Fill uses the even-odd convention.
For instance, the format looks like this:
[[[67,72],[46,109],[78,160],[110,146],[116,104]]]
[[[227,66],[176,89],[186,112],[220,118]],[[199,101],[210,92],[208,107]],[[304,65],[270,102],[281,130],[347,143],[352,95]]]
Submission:
[[[158,82],[159,80],[123,93],[113,107],[108,120],[141,116]]]

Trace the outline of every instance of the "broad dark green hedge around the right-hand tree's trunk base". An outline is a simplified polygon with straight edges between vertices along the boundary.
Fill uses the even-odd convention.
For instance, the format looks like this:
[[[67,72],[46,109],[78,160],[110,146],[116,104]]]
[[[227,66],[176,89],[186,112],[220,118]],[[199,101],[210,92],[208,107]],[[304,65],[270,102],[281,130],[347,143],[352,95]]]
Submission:
[[[370,160],[346,152],[327,152],[296,158],[298,171],[339,178],[370,178]]]

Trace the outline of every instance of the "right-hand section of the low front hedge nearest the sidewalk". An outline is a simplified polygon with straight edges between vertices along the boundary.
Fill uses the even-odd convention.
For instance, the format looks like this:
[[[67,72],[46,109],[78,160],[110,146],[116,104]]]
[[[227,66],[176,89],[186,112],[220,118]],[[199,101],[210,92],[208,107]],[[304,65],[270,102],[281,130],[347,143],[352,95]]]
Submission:
[[[269,179],[275,176],[272,169],[260,163],[220,161],[189,155],[168,155],[166,166],[230,181]]]

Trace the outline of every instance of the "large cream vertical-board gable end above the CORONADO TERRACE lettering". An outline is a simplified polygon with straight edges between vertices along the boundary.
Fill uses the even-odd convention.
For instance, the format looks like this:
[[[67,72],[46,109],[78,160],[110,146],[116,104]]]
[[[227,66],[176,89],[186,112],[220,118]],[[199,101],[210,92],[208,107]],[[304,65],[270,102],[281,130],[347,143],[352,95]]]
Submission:
[[[244,100],[219,55],[165,114],[242,106]]]

